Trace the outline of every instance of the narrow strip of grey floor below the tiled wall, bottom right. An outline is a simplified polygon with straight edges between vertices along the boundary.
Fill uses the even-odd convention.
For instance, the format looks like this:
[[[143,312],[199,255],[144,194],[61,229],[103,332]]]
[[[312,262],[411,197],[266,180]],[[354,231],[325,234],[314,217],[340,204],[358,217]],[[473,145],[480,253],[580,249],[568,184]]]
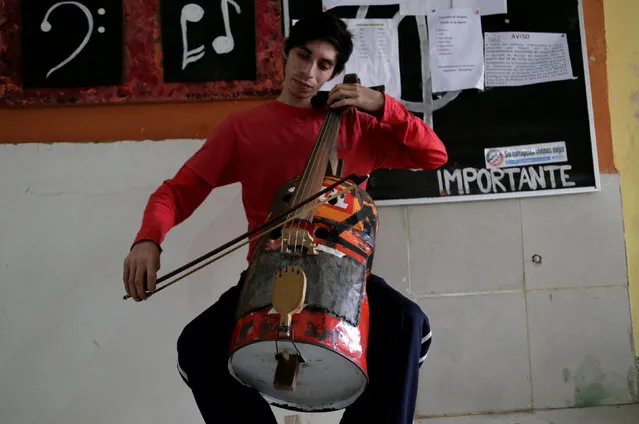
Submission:
[[[433,418],[418,424],[639,424],[639,405]]]

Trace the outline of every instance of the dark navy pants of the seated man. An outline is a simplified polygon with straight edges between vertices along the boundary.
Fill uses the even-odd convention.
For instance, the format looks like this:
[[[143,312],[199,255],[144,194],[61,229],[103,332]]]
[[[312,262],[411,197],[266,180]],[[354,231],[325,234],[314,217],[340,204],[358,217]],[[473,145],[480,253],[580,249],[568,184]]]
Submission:
[[[228,347],[242,280],[183,330],[177,343],[178,371],[207,424],[277,424],[269,404],[228,371]],[[415,415],[419,368],[431,343],[420,307],[371,275],[368,344],[369,385],[348,408],[342,424],[409,424]]]

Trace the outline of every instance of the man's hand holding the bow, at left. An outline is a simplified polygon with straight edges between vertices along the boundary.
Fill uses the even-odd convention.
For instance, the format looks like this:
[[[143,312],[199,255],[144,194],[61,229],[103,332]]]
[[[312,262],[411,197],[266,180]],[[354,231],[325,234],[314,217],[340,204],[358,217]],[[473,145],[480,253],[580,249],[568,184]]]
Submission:
[[[124,260],[124,289],[136,302],[155,291],[157,271],[160,269],[160,248],[152,241],[136,243]]]

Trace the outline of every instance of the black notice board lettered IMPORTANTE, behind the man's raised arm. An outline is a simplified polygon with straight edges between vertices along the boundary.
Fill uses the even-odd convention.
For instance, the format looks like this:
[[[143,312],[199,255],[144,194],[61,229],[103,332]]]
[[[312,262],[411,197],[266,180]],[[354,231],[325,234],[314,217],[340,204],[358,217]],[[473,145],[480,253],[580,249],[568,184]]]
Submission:
[[[284,2],[285,31],[292,20],[322,9],[322,0]],[[448,163],[435,171],[374,172],[368,191],[377,204],[599,189],[581,1],[509,0],[506,8],[481,14],[484,87],[435,93],[430,73],[429,16],[402,15],[400,9],[398,5],[337,6],[326,11],[343,19],[396,22],[400,100],[432,124],[448,149]],[[431,12],[459,19],[472,11]]]

